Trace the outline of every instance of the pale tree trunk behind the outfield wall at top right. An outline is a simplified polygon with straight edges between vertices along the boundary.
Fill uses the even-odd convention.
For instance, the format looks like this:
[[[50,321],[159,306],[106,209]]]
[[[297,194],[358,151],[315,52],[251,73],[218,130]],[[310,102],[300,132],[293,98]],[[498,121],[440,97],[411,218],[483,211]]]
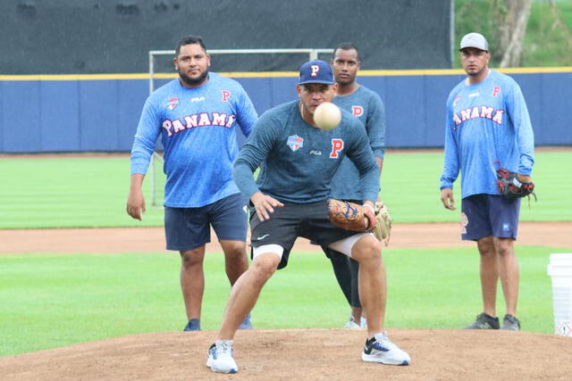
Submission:
[[[502,4],[503,3],[503,4]],[[500,44],[497,52],[501,56],[501,68],[517,67],[520,65],[522,46],[526,35],[526,24],[530,15],[533,0],[497,0],[493,12],[506,12],[501,22]],[[504,9],[501,10],[501,7]]]

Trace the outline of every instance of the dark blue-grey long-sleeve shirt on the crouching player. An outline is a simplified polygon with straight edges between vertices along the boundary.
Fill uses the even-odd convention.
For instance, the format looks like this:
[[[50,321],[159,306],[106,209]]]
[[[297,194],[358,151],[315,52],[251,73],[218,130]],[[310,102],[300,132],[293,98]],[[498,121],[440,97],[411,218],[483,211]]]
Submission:
[[[364,180],[363,199],[374,203],[379,175],[366,128],[349,112],[341,113],[340,125],[324,131],[302,119],[299,101],[265,112],[234,163],[233,177],[242,194],[250,198],[260,191],[282,203],[326,200],[333,175],[348,156]]]

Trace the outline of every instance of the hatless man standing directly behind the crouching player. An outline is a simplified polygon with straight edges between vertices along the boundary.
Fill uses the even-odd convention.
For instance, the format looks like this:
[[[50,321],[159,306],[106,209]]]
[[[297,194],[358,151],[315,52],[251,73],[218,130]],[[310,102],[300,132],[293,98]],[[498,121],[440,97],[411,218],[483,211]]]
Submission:
[[[338,92],[332,103],[350,112],[364,124],[381,176],[385,153],[385,109],[382,99],[369,88],[357,83],[357,71],[361,66],[357,46],[350,43],[336,46],[333,50],[331,64],[334,79],[338,84]],[[346,158],[332,178],[332,198],[361,203],[363,200],[361,190],[356,184],[359,184],[359,172],[356,166]],[[357,261],[342,253],[336,253],[332,249],[324,248],[324,252],[332,261],[333,272],[351,307],[351,315],[345,327],[366,327],[366,319],[362,314],[357,290],[359,268]]]

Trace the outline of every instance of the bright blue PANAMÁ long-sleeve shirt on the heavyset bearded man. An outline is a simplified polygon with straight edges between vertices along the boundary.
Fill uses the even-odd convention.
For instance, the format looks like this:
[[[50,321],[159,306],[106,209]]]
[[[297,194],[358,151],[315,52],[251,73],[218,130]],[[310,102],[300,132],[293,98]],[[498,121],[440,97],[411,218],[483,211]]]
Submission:
[[[209,73],[201,87],[173,79],[149,95],[131,149],[131,174],[147,172],[159,134],[164,146],[164,205],[196,208],[238,194],[232,163],[236,128],[248,137],[257,112],[240,84]]]

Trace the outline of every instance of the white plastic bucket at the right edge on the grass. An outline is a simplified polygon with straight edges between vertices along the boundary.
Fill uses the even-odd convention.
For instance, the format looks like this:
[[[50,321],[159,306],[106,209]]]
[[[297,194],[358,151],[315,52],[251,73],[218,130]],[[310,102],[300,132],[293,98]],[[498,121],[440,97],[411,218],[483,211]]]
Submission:
[[[548,275],[552,279],[554,333],[572,337],[572,253],[551,254]]]

